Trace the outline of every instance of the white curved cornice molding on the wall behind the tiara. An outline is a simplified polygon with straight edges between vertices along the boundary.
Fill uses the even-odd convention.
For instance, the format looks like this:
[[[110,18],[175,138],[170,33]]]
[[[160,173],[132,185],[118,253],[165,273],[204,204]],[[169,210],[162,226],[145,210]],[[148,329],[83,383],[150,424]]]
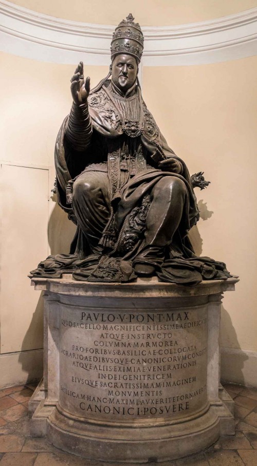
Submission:
[[[114,27],[63,20],[0,0],[0,49],[25,58],[108,65]],[[257,7],[211,21],[142,29],[144,66],[216,63],[257,54]]]

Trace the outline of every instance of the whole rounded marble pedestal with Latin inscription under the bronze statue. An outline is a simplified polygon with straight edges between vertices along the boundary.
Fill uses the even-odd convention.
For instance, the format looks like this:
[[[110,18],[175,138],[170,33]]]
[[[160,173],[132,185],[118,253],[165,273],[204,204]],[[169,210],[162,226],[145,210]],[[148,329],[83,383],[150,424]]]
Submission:
[[[45,297],[32,435],[83,457],[140,463],[234,434],[233,401],[219,384],[219,326],[222,293],[236,281],[32,278]]]

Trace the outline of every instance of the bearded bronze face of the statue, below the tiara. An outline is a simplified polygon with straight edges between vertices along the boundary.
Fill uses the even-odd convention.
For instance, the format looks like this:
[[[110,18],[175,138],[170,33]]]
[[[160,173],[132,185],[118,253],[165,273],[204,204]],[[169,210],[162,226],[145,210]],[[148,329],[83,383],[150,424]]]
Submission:
[[[137,77],[137,61],[132,55],[116,55],[112,62],[112,80],[125,92],[134,84]]]

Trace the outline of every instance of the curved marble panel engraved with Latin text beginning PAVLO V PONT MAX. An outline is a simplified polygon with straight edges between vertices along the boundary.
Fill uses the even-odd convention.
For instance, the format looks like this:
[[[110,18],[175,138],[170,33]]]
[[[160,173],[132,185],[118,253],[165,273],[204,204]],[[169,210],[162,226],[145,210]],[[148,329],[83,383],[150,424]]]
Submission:
[[[67,411],[91,419],[176,419],[207,403],[205,307],[72,313],[64,307],[61,335],[60,404]]]

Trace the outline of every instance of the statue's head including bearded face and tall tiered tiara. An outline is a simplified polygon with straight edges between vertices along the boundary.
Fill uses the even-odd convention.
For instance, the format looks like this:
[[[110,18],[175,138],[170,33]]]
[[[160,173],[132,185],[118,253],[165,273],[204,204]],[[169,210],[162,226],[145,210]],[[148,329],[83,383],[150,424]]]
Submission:
[[[143,53],[143,34],[130,13],[122,20],[113,33],[111,43],[112,80],[126,91],[135,82],[138,65]]]

